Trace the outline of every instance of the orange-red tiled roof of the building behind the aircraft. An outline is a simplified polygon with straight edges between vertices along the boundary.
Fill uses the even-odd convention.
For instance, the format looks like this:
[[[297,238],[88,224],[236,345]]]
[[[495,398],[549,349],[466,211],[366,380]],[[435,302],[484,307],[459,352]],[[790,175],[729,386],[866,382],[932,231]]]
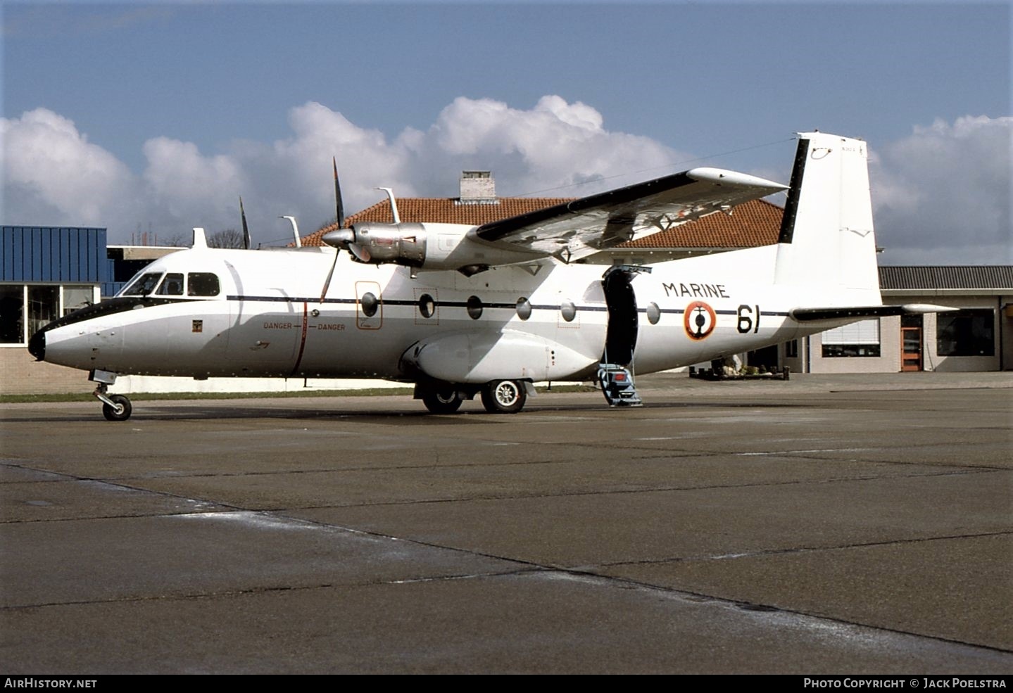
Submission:
[[[568,197],[499,197],[497,204],[461,204],[453,197],[402,197],[397,210],[402,222],[431,222],[479,226],[567,202]],[[620,248],[753,248],[777,243],[783,209],[765,200],[739,204],[732,214],[718,212],[688,222],[672,231],[624,243]],[[361,222],[391,224],[390,201],[383,200],[353,214],[345,226]],[[302,239],[304,246],[321,246],[330,225]]]

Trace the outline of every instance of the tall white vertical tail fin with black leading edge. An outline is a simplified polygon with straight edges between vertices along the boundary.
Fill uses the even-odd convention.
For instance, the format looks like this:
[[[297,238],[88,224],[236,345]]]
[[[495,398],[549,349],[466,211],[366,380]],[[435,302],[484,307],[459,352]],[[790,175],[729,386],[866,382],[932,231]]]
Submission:
[[[838,300],[851,289],[868,295],[852,293],[849,302],[881,302],[867,157],[861,140],[799,134],[775,283],[826,287]]]

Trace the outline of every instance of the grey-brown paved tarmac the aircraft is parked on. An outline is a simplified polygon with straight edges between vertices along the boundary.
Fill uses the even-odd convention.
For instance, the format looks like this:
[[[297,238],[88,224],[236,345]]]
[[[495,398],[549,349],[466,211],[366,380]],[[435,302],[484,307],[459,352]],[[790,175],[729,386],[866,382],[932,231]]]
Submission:
[[[1013,375],[0,405],[0,672],[1013,673]]]

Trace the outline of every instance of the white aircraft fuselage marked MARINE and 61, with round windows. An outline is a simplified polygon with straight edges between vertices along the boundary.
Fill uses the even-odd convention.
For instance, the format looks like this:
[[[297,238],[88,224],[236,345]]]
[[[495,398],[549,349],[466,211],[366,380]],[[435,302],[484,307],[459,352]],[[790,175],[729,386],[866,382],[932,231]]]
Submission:
[[[846,322],[808,323],[803,333],[789,316],[800,302],[797,293],[763,276],[776,248],[653,265],[651,273],[629,276],[632,295],[608,298],[601,265],[548,262],[471,277],[450,271],[412,276],[403,267],[355,263],[342,253],[323,300],[333,249],[182,250],[142,272],[157,275],[151,283],[160,292],[121,295],[71,314],[47,329],[33,352],[44,349],[47,361],[87,370],[198,378],[477,383],[494,370],[501,378],[579,379],[607,357],[612,302],[620,316],[613,313],[613,320],[625,321],[619,332],[632,332],[632,361],[644,373]],[[159,286],[194,274],[216,276],[216,294],[196,297]],[[817,305],[842,298],[808,297]],[[433,355],[412,355],[409,347],[417,344]]]

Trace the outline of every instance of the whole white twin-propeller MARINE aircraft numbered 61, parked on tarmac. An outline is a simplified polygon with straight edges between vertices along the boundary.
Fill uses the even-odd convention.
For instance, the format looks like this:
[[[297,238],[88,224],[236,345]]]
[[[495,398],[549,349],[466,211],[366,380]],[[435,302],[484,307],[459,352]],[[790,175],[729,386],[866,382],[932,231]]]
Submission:
[[[322,248],[212,249],[194,229],[192,248],[28,350],[88,370],[113,421],[132,411],[106,392],[120,374],[388,378],[445,414],[476,394],[519,412],[534,382],[597,376],[610,404],[638,404],[631,364],[649,373],[936,309],[882,305],[866,157],[862,141],[800,134],[776,245],[604,274],[577,261],[786,186],[696,168],[480,227],[355,225]],[[339,191],[337,208],[343,226]]]

